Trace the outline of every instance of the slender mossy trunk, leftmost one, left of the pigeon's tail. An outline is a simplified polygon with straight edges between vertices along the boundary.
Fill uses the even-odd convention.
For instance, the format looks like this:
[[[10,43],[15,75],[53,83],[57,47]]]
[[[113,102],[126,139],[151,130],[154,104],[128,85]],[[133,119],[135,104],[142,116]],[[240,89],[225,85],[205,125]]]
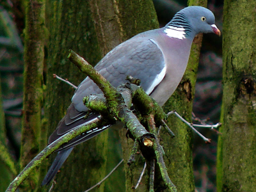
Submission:
[[[43,68],[45,43],[45,1],[26,2],[24,52],[24,97],[20,168],[23,169],[40,152]],[[38,184],[38,170],[29,176],[21,190],[33,191]]]

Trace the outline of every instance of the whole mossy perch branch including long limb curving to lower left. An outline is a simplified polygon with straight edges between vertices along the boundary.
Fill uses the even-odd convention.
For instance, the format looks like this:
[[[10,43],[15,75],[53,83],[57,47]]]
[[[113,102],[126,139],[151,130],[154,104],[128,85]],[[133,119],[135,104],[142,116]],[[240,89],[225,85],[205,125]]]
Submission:
[[[79,134],[90,131],[95,127],[109,125],[111,122],[113,123],[113,120],[122,122],[125,127],[129,129],[132,139],[134,139],[136,143],[139,143],[143,155],[146,154],[145,158],[156,159],[156,163],[160,168],[166,186],[171,191],[177,191],[166,171],[166,166],[163,161],[163,148],[159,144],[156,134],[155,121],[157,125],[162,125],[163,119],[166,118],[163,109],[135,84],[127,83],[118,86],[118,88],[114,88],[99,74],[99,72],[74,51],[70,50],[68,59],[75,63],[77,67],[81,68],[81,70],[85,72],[104,93],[104,97],[103,95],[90,95],[84,98],[84,104],[91,110],[100,113],[103,118],[97,118],[86,126],[77,127],[45,147],[44,150],[42,150],[42,152],[40,152],[40,154],[38,154],[13,180],[6,191],[15,191],[20,183],[28,177],[31,170],[38,166],[45,157],[56,151],[64,143],[67,143],[76,136],[79,136]],[[150,123],[148,123],[150,132],[141,125],[137,116],[131,111],[130,108],[132,102],[134,107],[138,110],[138,113],[140,113],[140,116],[144,116],[144,118],[141,118],[141,122],[147,122],[148,117],[150,117]],[[138,144],[136,144],[136,146],[138,146]],[[155,162],[155,160],[153,162]],[[152,170],[152,172],[154,172],[154,170]],[[150,182],[152,183],[154,180],[151,179]]]

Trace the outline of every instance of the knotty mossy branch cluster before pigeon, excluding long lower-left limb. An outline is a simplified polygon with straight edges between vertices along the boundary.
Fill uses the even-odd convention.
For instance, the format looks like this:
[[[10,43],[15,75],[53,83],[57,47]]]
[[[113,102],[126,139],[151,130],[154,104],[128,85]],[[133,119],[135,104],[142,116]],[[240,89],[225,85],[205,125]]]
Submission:
[[[163,125],[164,129],[166,129],[172,137],[174,136],[173,132],[164,122],[167,116],[163,109],[154,99],[149,97],[140,86],[133,84],[138,83],[137,79],[128,77],[127,79],[131,83],[122,84],[118,86],[118,88],[114,88],[104,77],[100,76],[97,71],[91,68],[91,65],[79,64],[79,62],[84,63],[86,61],[84,61],[83,58],[79,58],[74,52],[70,51],[68,58],[77,66],[81,66],[79,68],[85,72],[104,93],[104,97],[102,96],[101,99],[99,99],[99,95],[86,96],[84,98],[84,104],[93,111],[97,111],[102,116],[109,118],[110,115],[110,118],[123,122],[125,127],[129,130],[129,136],[135,141],[129,164],[134,162],[134,160],[132,160],[134,159],[134,152],[138,151],[139,148],[148,162],[147,165],[150,166],[149,191],[154,191],[156,164],[167,188],[171,191],[177,191],[168,176],[163,160],[163,148],[157,138],[156,127],[160,125]],[[88,73],[88,71],[90,71],[90,73]],[[98,104],[93,102],[95,99]],[[131,106],[134,107],[135,113],[131,110]],[[145,127],[147,127],[147,129],[145,129]]]

